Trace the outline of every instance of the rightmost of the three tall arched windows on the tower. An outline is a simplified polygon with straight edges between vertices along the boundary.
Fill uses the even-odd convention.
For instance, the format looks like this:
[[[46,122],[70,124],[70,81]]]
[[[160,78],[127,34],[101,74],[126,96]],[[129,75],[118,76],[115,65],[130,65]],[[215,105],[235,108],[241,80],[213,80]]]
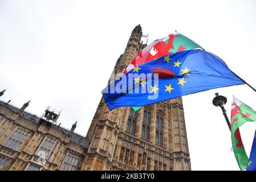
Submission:
[[[164,130],[164,119],[163,114],[160,111],[156,113],[156,146],[163,146],[163,130]]]

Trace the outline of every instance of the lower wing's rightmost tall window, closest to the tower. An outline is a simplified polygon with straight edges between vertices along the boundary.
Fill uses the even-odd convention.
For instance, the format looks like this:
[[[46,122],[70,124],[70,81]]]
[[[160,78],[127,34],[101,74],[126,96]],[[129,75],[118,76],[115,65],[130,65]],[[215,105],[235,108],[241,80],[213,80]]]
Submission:
[[[62,164],[62,171],[75,171],[76,166],[79,162],[79,156],[73,154],[72,152],[68,151],[64,163]]]

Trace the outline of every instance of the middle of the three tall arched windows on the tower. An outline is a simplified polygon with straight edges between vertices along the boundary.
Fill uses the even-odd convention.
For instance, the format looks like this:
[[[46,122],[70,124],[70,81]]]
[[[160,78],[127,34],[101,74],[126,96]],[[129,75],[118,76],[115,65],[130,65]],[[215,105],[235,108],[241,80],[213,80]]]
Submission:
[[[149,140],[150,125],[151,125],[151,110],[149,107],[145,107],[143,112],[143,122],[141,126],[141,139]]]

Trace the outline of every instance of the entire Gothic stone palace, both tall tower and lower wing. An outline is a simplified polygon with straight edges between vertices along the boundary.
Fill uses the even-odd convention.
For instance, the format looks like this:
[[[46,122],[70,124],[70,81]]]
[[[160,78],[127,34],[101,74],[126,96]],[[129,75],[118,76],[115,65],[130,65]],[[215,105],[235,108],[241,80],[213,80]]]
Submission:
[[[136,26],[115,73],[123,73],[145,44]],[[4,90],[5,91],[5,90]],[[0,97],[4,94],[0,92]],[[0,100],[0,170],[191,170],[182,98],[109,111],[101,98],[86,137]]]

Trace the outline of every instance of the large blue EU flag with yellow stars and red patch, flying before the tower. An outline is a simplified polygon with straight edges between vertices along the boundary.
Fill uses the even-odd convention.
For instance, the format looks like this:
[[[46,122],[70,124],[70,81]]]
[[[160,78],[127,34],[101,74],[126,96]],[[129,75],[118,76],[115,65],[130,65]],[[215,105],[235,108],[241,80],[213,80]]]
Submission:
[[[192,49],[141,64],[117,78],[101,93],[112,110],[240,84],[245,82],[235,76],[220,57]]]

